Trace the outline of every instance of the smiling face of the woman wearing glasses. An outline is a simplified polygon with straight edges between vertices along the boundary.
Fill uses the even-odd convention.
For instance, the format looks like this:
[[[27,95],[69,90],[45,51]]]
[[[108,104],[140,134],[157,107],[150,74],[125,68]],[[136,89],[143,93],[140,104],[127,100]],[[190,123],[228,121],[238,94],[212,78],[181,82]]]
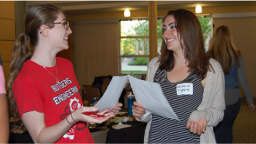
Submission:
[[[64,14],[59,13],[58,18],[53,23],[55,23],[54,27],[49,30],[51,46],[58,47],[60,50],[67,50],[69,48],[68,38],[72,34],[72,30],[70,27],[66,30],[67,20]]]

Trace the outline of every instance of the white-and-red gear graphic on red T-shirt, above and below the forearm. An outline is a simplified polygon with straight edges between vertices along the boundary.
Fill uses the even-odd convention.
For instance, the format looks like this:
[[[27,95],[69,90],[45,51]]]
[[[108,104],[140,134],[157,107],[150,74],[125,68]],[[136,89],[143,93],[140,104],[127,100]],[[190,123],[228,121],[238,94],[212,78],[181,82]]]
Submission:
[[[79,99],[74,98],[74,99],[70,99],[70,112],[72,113],[74,110],[77,110],[78,108],[82,107],[81,104],[79,103]],[[70,114],[71,114],[70,113]],[[63,136],[63,138],[70,138],[70,139],[74,139],[74,133],[76,130],[76,125],[72,126],[70,128],[70,130]]]

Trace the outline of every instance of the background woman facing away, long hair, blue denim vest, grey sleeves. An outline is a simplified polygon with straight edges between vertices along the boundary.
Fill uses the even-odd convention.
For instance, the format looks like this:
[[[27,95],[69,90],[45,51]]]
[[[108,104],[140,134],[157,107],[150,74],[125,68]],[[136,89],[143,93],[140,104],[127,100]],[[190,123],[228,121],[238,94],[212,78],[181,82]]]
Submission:
[[[251,111],[255,110],[254,100],[247,82],[245,65],[242,54],[234,46],[231,31],[228,26],[222,25],[214,31],[209,42],[207,54],[216,59],[222,66],[225,74],[225,102],[224,118],[218,126],[214,127],[218,143],[233,142],[233,125],[241,107],[241,93],[239,83],[246,95],[246,101]]]

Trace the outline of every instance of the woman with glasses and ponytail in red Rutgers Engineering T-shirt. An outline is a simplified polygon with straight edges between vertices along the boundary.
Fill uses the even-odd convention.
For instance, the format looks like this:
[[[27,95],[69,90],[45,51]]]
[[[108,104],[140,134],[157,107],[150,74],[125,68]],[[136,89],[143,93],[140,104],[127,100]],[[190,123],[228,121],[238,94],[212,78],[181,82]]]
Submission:
[[[40,4],[26,12],[25,31],[14,44],[9,98],[35,143],[94,143],[86,122],[105,122],[122,106],[118,103],[99,113],[96,106],[82,106],[72,63],[56,57],[69,48],[71,33],[62,10]]]

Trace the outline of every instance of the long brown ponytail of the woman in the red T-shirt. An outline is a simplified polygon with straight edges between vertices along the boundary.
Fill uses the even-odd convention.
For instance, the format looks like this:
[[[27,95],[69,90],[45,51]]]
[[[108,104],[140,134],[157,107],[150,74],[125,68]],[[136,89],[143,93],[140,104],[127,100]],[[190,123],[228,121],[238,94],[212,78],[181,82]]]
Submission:
[[[7,82],[10,89],[8,98],[13,117],[19,116],[13,94],[14,80],[22,70],[24,62],[30,59],[34,54],[34,48],[38,45],[40,26],[54,22],[58,18],[59,13],[62,13],[62,10],[50,4],[32,6],[26,12],[25,30],[15,41],[14,50],[10,61],[10,78]],[[48,26],[50,28],[54,27],[54,25]]]

